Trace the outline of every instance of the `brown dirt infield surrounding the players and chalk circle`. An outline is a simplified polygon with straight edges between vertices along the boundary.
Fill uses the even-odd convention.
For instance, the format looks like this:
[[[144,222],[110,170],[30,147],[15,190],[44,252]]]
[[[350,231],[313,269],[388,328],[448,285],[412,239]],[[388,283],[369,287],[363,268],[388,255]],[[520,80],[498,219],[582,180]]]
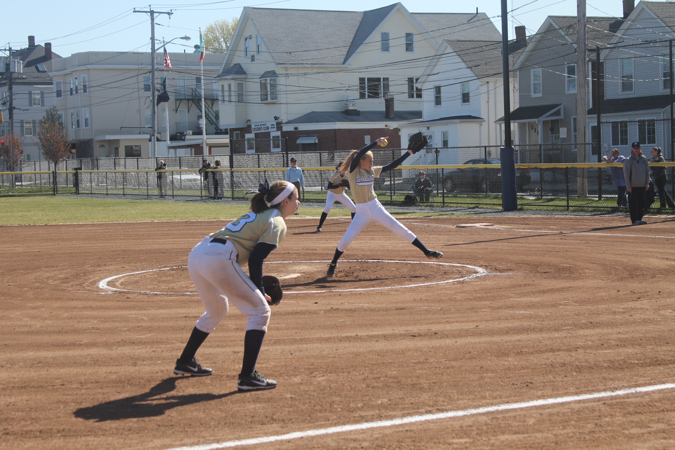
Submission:
[[[182,266],[222,222],[1,227],[0,448],[192,447],[675,382],[675,221],[490,220],[502,229],[401,219],[439,262],[487,271],[432,285],[476,270],[344,261],[327,281],[315,261],[348,221],[314,233],[315,220],[289,220],[269,261],[303,262],[265,266],[294,293],[273,308],[258,364],[279,387],[256,393],[236,393],[235,308],[197,354],[213,376],[171,371],[202,312]],[[421,256],[369,225],[343,258]],[[171,266],[109,282],[129,291],[99,287]],[[240,448],[672,449],[674,405],[663,389]]]

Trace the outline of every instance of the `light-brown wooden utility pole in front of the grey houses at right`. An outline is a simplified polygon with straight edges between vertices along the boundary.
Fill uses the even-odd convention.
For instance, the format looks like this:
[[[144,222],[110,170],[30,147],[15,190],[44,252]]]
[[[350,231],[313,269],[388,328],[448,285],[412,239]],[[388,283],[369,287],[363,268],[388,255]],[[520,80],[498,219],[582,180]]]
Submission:
[[[597,61],[598,72],[600,61]],[[589,69],[586,52],[586,0],[576,0],[576,136],[577,140],[583,136],[586,142],[589,104]],[[601,133],[600,124],[597,132]],[[598,148],[600,152],[601,149]],[[576,146],[576,162],[588,162],[588,149],[585,145]],[[588,169],[579,167],[576,172],[576,195],[588,196]]]

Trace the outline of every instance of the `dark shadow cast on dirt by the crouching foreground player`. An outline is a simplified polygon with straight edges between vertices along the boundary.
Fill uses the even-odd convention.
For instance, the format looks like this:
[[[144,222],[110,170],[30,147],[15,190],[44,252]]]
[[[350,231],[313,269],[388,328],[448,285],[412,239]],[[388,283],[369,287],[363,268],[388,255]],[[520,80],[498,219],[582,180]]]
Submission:
[[[150,388],[148,392],[99,403],[98,405],[81,407],[73,413],[75,417],[85,420],[105,422],[107,420],[136,419],[144,417],[162,416],[175,407],[192,405],[202,401],[224,399],[239,391],[224,394],[186,394],[160,397],[175,390],[175,382],[181,378],[188,380],[191,377],[171,376]]]

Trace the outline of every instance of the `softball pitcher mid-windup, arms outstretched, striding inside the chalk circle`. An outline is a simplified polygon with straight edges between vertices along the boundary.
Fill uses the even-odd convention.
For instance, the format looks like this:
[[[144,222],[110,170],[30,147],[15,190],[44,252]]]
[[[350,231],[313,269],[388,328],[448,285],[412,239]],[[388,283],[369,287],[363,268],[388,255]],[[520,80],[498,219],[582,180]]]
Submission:
[[[335,249],[335,255],[328,265],[326,277],[333,277],[333,275],[335,275],[335,269],[338,267],[338,259],[342,256],[344,251],[347,250],[349,244],[354,240],[354,237],[356,237],[371,221],[375,221],[383,227],[387,227],[391,231],[394,231],[394,233],[403,237],[406,241],[410,242],[410,244],[422,250],[427,258],[439,259],[443,257],[441,252],[429,250],[425,247],[412,231],[394,219],[391,214],[387,213],[379,200],[377,200],[377,195],[373,189],[375,178],[383,173],[396,169],[396,167],[401,165],[403,161],[406,161],[406,158],[411,154],[424,148],[428,144],[427,138],[425,138],[424,134],[421,132],[413,134],[410,136],[407,152],[384,167],[373,167],[373,152],[370,151],[371,148],[375,147],[377,144],[384,146],[386,145],[386,142],[387,138],[379,138],[358,151],[352,150],[340,167],[340,172],[347,171],[348,173],[350,191],[352,192],[352,196],[354,196],[354,203],[356,203],[356,215],[354,216],[354,219],[352,219],[347,231],[344,233],[344,237],[340,240],[338,248]]]

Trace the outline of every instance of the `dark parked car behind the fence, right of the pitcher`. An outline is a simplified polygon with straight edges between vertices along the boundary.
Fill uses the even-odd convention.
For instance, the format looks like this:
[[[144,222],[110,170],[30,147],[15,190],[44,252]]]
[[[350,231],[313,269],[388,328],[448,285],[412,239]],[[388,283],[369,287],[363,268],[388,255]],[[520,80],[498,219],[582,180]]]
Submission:
[[[497,158],[470,159],[465,165],[501,164]],[[520,191],[530,184],[530,170],[516,169],[516,188]],[[502,192],[502,169],[498,167],[476,167],[467,169],[450,169],[443,176],[445,192],[459,189],[470,189],[474,192]]]

